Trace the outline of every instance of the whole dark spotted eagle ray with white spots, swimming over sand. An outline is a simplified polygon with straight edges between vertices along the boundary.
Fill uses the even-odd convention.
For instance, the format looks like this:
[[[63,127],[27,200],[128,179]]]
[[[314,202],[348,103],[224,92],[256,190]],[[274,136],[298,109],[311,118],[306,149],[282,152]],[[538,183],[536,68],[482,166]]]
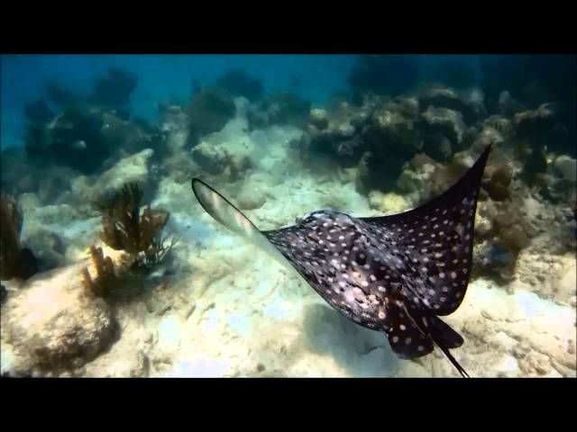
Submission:
[[[314,211],[297,225],[261,231],[198,178],[192,189],[215,220],[297,270],[325,302],[362,327],[383,331],[400,358],[439,347],[463,377],[449,349],[463,338],[439,316],[459,308],[472,268],[474,219],[488,146],[447,191],[410,211],[354,218]]]

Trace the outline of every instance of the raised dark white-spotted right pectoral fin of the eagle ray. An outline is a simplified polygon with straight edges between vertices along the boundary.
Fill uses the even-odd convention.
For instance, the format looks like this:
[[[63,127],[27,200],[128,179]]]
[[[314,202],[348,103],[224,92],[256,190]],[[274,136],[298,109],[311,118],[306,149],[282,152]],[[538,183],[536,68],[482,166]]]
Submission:
[[[411,291],[429,312],[449,315],[463,302],[472,270],[474,220],[490,146],[447,191],[430,202],[389,216],[363,220],[391,232],[400,247],[412,250]],[[382,238],[390,241],[393,238]]]

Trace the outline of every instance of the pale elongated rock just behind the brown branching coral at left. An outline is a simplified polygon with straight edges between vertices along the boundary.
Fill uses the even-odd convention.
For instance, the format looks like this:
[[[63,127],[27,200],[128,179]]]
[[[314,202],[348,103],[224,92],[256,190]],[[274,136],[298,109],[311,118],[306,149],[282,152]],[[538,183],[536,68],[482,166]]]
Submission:
[[[78,176],[72,181],[71,190],[78,202],[90,204],[95,196],[119,189],[124,183],[137,183],[145,187],[150,181],[149,163],[154,150],[147,148],[133,156],[124,157],[98,177]]]

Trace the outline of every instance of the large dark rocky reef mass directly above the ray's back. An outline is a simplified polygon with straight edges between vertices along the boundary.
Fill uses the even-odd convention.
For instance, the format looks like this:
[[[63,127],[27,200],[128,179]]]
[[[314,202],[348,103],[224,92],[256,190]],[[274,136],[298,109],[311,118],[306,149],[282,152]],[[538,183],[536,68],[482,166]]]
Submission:
[[[361,192],[388,190],[403,163],[423,145],[416,99],[398,97],[385,102],[374,96],[361,107],[340,103],[330,114],[314,115],[317,119],[309,120],[298,142],[301,157],[313,152],[345,168],[357,166],[356,184]]]

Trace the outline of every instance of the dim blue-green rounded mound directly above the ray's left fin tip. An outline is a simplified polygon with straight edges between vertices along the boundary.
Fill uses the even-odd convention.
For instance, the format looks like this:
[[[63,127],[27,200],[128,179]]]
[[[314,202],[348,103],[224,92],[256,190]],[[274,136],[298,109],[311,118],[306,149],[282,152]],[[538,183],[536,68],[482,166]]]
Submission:
[[[208,133],[222,130],[234,118],[236,106],[231,94],[218,87],[206,87],[193,94],[188,106],[189,142],[196,146]]]

